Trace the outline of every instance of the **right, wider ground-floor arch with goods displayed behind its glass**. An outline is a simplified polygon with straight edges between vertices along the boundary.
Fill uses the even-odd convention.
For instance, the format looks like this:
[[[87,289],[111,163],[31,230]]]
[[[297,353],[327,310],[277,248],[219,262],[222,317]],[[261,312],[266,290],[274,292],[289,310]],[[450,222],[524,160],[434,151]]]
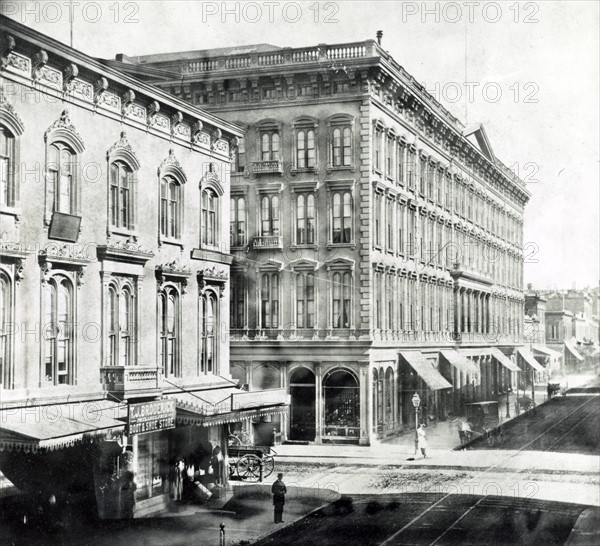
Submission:
[[[358,379],[346,370],[330,372],[323,381],[325,436],[332,440],[360,436],[360,388]]]

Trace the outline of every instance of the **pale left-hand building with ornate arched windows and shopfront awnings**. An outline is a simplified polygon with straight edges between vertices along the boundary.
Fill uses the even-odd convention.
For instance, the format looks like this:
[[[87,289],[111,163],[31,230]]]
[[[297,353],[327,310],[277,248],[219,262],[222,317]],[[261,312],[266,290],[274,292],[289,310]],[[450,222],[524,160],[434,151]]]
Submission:
[[[287,411],[229,370],[229,147],[242,133],[0,18],[0,470],[158,510],[227,424]],[[216,450],[216,451],[215,451]],[[219,457],[219,459],[221,459]],[[190,470],[192,472],[192,470]]]

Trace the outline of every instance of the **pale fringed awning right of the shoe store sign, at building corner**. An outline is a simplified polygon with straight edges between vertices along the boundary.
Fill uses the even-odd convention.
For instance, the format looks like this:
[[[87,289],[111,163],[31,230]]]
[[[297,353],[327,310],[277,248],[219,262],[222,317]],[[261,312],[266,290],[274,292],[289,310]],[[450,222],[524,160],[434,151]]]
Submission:
[[[286,414],[286,389],[245,391],[236,387],[171,393],[175,399],[179,425],[212,426],[235,423],[265,415]]]

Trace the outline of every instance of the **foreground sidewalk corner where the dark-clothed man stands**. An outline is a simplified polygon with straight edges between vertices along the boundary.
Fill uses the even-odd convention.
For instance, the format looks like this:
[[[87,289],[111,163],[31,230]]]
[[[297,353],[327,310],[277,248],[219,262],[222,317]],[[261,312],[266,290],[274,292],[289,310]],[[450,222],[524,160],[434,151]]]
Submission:
[[[288,485],[283,512],[283,524],[273,523],[271,484],[233,483],[225,499],[205,505],[174,505],[171,513],[160,517],[134,520],[78,520],[61,535],[40,535],[35,526],[23,526],[18,521],[0,526],[2,544],[81,544],[88,546],[169,546],[219,544],[221,524],[227,546],[249,544],[276,530],[290,525],[314,510],[340,498],[331,489],[309,489]],[[290,482],[288,481],[288,484]]]

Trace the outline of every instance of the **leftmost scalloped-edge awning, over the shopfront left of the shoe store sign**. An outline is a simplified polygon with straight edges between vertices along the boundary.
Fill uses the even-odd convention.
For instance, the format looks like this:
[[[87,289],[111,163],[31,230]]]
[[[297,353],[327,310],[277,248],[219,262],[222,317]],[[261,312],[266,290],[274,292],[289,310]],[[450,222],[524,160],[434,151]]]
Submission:
[[[123,434],[125,406],[94,400],[0,410],[0,450],[55,451]]]

